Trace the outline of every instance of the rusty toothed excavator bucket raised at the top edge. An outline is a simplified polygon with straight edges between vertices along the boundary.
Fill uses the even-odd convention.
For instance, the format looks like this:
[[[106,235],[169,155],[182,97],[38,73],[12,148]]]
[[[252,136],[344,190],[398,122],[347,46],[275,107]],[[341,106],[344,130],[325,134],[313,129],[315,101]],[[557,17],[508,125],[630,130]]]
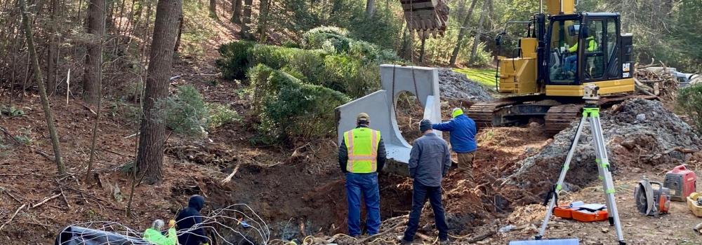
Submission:
[[[449,6],[445,0],[400,0],[407,27],[420,34],[444,36],[449,21]]]

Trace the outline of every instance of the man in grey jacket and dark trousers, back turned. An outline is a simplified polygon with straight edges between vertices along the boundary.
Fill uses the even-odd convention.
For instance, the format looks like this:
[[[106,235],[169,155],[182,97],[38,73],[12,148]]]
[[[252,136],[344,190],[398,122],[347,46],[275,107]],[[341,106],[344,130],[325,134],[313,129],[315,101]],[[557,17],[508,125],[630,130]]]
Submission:
[[[434,210],[435,224],[439,230],[439,244],[447,244],[449,226],[446,225],[441,202],[441,181],[451,167],[451,152],[446,141],[432,131],[430,120],[421,120],[419,131],[424,135],[414,141],[409,156],[409,175],[414,179],[412,211],[409,213],[409,222],[402,237],[402,244],[411,244],[414,240],[419,226],[419,217],[427,199]]]

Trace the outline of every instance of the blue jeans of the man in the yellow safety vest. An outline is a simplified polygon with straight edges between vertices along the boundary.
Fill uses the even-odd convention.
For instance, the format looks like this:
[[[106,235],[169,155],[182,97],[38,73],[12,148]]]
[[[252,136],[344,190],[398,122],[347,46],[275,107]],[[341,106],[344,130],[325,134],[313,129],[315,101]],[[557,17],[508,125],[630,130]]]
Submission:
[[[368,235],[376,235],[380,229],[380,191],[377,173],[346,173],[348,226],[349,235],[352,237],[361,235],[361,194],[366,202],[366,230]]]

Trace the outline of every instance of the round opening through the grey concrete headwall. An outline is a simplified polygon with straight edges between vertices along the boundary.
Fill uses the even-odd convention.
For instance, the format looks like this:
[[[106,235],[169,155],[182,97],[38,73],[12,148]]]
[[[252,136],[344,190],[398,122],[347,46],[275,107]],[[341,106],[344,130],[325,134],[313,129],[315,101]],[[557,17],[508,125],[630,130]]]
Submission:
[[[424,106],[420,104],[416,95],[411,92],[400,93],[395,100],[395,118],[397,127],[407,144],[421,137],[419,121],[424,117]]]

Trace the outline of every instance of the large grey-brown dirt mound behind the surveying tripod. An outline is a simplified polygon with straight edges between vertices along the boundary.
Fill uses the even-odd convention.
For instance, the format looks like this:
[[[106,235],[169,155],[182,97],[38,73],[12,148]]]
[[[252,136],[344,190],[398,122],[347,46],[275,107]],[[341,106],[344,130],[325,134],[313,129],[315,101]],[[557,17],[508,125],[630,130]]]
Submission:
[[[632,99],[614,106],[601,116],[602,131],[615,174],[618,169],[633,167],[642,169],[661,165],[665,169],[687,160],[682,151],[698,151],[702,147],[700,137],[694,134],[692,128],[665,109],[661,102]],[[514,189],[513,193],[523,193],[520,194],[522,203],[538,200],[538,196],[555,183],[575,135],[576,124],[572,123],[571,127],[557,134],[554,141],[537,155],[518,162],[518,169],[505,178],[505,183],[511,186],[505,190]],[[577,190],[596,179],[595,151],[590,124],[587,123],[583,127],[564,190]],[[527,190],[527,193],[523,190]]]

